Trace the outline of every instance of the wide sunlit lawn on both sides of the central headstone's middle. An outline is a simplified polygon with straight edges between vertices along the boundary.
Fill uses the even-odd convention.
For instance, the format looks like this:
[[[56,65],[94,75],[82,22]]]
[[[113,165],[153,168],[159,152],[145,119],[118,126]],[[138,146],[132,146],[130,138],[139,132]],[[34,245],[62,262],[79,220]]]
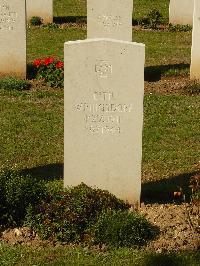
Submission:
[[[23,169],[62,163],[63,92],[4,91],[0,99],[1,165]],[[162,179],[194,170],[200,156],[199,99],[145,97],[143,168],[147,176]]]

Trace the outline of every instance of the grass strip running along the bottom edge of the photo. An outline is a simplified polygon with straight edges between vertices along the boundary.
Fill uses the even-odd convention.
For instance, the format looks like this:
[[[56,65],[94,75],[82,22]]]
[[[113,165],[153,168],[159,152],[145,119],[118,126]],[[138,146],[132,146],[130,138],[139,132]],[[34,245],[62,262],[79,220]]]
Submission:
[[[0,264],[10,265],[135,265],[135,266],[198,266],[198,252],[153,254],[133,249],[95,252],[82,248],[29,248],[0,246]]]

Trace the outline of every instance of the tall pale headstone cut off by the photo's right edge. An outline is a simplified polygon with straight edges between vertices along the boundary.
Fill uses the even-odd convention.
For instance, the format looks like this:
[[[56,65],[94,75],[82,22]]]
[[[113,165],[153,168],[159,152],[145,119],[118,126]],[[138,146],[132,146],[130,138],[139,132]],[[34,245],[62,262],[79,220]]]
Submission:
[[[200,80],[200,1],[195,0],[192,31],[191,79]]]

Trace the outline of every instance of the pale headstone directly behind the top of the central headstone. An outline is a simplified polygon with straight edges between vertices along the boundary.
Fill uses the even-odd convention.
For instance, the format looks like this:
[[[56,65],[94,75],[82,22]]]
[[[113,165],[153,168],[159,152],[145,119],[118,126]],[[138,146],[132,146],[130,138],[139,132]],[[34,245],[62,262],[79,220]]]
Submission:
[[[87,38],[132,41],[133,0],[88,0]]]

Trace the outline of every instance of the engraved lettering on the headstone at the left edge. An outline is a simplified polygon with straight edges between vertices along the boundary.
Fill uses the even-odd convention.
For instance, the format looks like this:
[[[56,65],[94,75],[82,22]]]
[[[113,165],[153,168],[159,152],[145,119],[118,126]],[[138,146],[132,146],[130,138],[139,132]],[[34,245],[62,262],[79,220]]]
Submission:
[[[17,18],[17,12],[12,11],[8,4],[0,4],[0,30],[14,30]]]

